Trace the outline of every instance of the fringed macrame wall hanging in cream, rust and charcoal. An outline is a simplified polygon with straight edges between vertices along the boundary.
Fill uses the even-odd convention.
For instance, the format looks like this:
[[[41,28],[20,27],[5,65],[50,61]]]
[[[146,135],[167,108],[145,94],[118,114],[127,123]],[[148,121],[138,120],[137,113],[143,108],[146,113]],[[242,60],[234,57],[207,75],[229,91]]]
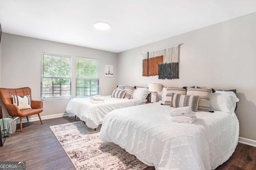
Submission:
[[[158,79],[179,78],[179,45],[142,53],[142,76],[158,75]]]

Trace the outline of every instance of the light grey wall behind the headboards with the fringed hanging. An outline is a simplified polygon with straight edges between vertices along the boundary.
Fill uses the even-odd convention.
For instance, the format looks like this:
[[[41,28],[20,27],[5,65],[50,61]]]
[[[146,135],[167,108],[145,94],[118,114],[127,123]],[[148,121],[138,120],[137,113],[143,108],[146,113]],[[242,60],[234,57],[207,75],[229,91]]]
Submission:
[[[142,76],[142,54],[180,46],[180,79]],[[240,137],[256,140],[256,13],[118,54],[118,84],[237,89]]]

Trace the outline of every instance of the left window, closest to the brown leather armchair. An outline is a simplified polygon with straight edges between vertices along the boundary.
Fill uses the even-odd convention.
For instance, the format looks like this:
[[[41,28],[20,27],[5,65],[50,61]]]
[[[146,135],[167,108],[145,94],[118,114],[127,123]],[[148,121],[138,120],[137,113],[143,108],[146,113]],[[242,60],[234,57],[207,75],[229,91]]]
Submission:
[[[71,97],[71,58],[42,53],[41,100]]]

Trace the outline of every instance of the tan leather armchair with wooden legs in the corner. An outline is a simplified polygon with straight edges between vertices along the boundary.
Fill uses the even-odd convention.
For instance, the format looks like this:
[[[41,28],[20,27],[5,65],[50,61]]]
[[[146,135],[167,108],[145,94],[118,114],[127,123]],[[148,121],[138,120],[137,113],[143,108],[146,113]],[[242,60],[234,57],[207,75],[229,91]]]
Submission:
[[[22,131],[22,117],[27,117],[30,115],[38,114],[38,117],[42,122],[42,119],[39,115],[43,111],[43,102],[32,100],[31,98],[31,89],[29,87],[24,88],[0,88],[0,95],[3,100],[3,103],[8,111],[8,114],[13,117],[20,117],[20,131]],[[12,104],[12,95],[17,96],[26,96],[30,95],[30,102],[32,109],[22,109],[20,110],[15,104]]]

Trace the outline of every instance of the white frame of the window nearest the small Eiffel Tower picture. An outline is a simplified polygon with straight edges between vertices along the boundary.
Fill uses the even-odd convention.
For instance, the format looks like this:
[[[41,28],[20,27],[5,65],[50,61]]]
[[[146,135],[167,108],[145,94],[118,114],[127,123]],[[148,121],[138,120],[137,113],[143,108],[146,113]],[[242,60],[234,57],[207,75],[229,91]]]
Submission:
[[[91,82],[91,80],[98,80],[98,94],[99,94],[99,82],[100,82],[100,76],[99,76],[99,72],[100,72],[100,68],[99,68],[99,65],[100,65],[100,60],[99,59],[90,59],[90,58],[85,58],[85,57],[76,57],[76,60],[77,59],[82,59],[82,60],[90,60],[90,61],[98,61],[98,64],[97,64],[97,70],[96,70],[96,74],[97,74],[97,76],[95,77],[95,78],[91,78],[91,77],[86,77],[86,78],[78,78],[78,65],[77,65],[77,63],[76,63],[76,83],[77,83],[77,80],[78,79],[90,79],[90,82]],[[90,90],[90,95],[79,95],[78,96],[78,94],[77,94],[77,88],[84,88],[84,87],[77,87],[76,86],[76,97],[77,98],[82,98],[82,97],[90,97],[90,96],[93,96],[93,95],[95,95],[95,94],[91,94],[91,90]],[[91,88],[91,86],[90,86],[90,88]]]

